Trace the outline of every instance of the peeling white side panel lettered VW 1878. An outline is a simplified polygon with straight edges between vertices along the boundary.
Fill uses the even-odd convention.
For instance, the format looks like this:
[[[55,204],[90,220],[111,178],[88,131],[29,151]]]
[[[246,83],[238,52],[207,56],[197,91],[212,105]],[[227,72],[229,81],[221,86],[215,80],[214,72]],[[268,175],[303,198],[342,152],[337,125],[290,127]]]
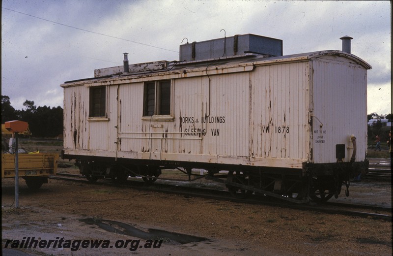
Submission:
[[[308,160],[309,64],[263,65],[252,74],[252,147],[256,158]]]

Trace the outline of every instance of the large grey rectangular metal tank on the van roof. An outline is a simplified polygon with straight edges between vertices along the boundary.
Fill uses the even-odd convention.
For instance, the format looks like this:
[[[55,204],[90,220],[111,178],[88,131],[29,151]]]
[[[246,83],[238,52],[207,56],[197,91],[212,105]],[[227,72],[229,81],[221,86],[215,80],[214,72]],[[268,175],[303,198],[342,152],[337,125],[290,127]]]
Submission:
[[[217,59],[256,53],[282,56],[282,40],[255,35],[242,34],[180,45],[180,61]]]

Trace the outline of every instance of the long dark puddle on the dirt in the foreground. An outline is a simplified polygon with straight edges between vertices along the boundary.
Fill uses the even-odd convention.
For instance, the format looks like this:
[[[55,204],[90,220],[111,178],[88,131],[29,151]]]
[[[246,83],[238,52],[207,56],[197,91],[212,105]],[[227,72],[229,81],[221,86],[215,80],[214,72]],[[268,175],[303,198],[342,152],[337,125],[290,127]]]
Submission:
[[[84,222],[85,224],[89,224],[89,225],[97,225],[98,227],[100,227],[106,231],[109,231],[109,232],[113,232],[116,234],[122,234],[122,235],[129,235],[129,236],[138,237],[140,239],[145,239],[145,240],[162,239],[164,241],[170,240],[170,241],[178,242],[180,244],[188,244],[188,243],[201,242],[201,241],[208,240],[206,237],[180,234],[180,233],[176,233],[176,232],[169,232],[166,230],[153,229],[153,228],[147,229],[147,232],[146,232],[146,231],[140,230],[139,228],[131,226],[129,224],[125,224],[122,222],[116,222],[116,221],[110,221],[110,220],[99,220],[99,219],[87,218],[87,219],[82,219],[80,221]]]

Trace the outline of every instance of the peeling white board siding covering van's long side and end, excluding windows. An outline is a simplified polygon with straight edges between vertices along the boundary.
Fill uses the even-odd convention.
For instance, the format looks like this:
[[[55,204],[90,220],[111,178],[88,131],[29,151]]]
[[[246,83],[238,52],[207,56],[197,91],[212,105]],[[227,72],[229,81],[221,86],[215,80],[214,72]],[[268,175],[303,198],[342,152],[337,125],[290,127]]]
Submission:
[[[66,83],[65,154],[302,168],[336,162],[337,144],[349,161],[354,134],[365,160],[368,68],[331,51]],[[170,115],[142,117],[144,82],[167,79]],[[88,118],[91,86],[105,118]]]

